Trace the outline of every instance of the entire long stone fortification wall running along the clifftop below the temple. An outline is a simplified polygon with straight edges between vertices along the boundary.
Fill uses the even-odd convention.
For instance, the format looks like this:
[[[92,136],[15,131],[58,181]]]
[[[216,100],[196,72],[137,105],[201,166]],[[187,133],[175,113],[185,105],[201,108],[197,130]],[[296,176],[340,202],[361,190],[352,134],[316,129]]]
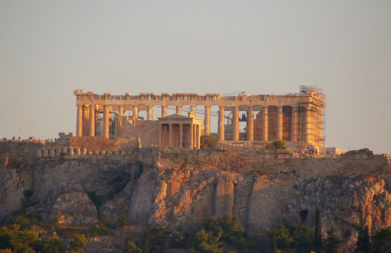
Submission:
[[[123,145],[120,150],[87,150],[54,144],[1,142],[1,162],[6,167],[31,164],[39,160],[91,159],[138,161],[160,167],[187,167],[199,171],[232,171],[235,173],[294,173],[302,176],[380,175],[391,171],[390,157],[372,151],[350,151],[342,157],[300,157],[286,150],[190,150],[186,148],[139,148],[139,142]]]

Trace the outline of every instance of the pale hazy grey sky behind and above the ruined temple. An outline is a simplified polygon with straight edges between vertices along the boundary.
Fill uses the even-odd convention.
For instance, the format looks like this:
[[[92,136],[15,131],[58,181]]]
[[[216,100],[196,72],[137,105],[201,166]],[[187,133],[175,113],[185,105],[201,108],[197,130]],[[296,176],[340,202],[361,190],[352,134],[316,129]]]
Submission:
[[[327,146],[391,153],[390,13],[389,0],[3,0],[0,136],[19,135],[20,84],[23,138],[75,133],[74,89],[284,94],[318,85]]]

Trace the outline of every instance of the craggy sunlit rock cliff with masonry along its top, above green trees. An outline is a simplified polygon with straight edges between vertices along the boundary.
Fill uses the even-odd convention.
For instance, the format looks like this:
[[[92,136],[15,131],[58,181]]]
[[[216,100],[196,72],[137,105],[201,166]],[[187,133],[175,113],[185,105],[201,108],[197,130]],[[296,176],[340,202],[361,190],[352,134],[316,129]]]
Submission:
[[[249,233],[261,233],[283,217],[314,226],[316,207],[324,228],[334,226],[347,240],[366,225],[391,226],[387,157],[267,160],[259,153],[141,149],[129,162],[22,153],[1,157],[3,220],[28,202],[27,213],[70,226],[126,216],[132,226],[193,230],[209,216],[237,214]]]

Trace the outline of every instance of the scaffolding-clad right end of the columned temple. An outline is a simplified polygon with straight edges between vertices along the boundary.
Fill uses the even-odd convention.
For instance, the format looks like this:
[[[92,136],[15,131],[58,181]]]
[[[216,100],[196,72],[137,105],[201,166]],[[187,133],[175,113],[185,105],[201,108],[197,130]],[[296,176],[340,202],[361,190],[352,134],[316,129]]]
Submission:
[[[301,95],[313,95],[309,103],[300,103],[297,108],[298,141],[326,146],[326,95],[317,85],[300,86]]]

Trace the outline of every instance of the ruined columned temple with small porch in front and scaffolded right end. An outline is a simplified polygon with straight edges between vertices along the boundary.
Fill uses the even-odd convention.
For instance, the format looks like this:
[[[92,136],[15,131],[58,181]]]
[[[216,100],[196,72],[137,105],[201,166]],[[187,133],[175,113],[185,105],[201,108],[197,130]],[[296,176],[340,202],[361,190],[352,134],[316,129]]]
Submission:
[[[178,148],[199,148],[203,134],[215,135],[219,141],[278,139],[292,145],[325,145],[326,96],[316,86],[300,86],[299,93],[286,95],[248,96],[242,92],[236,96],[220,93],[113,96],[82,89],[74,94],[77,136],[139,137],[143,145]],[[154,120],[156,108],[160,117],[155,115]],[[174,113],[167,116],[167,110]],[[143,111],[146,119],[140,116]],[[187,115],[182,115],[183,112]],[[217,126],[212,125],[211,116],[217,116]]]

